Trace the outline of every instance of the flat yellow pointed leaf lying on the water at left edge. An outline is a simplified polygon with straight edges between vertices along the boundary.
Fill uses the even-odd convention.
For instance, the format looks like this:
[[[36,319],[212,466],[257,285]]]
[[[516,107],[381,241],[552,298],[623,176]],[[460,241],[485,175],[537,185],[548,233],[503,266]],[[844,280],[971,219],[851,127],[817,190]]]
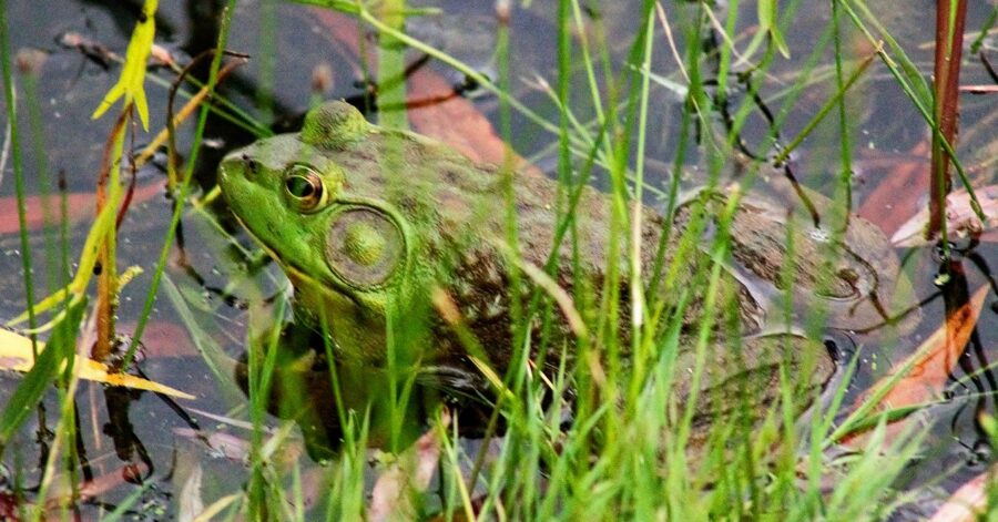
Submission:
[[[40,354],[44,354],[44,345],[42,342],[38,344],[38,348]],[[64,367],[64,364],[61,366]],[[0,329],[0,368],[27,372],[31,371],[33,367],[31,339],[9,330]],[[57,371],[61,370],[62,368],[59,368]],[[110,386],[123,386],[136,390],[154,391],[183,399],[195,398],[190,393],[175,390],[169,386],[160,385],[159,382],[130,376],[128,373],[111,372],[106,365],[92,359],[77,357],[73,361],[73,372],[81,379],[103,382]]]

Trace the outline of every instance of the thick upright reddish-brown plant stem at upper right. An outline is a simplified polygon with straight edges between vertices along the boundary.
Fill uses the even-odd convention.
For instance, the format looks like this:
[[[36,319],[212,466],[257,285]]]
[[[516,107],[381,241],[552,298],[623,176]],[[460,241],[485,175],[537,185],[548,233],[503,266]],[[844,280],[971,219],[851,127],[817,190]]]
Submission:
[[[967,19],[967,1],[956,0],[957,12],[953,17],[950,0],[936,3],[936,55],[935,55],[935,116],[939,133],[933,134],[933,171],[929,197],[928,238],[936,237],[943,229],[944,198],[953,186],[949,175],[950,157],[943,149],[941,139],[956,143],[960,60],[964,51],[964,22]],[[953,27],[950,28],[950,19]]]

